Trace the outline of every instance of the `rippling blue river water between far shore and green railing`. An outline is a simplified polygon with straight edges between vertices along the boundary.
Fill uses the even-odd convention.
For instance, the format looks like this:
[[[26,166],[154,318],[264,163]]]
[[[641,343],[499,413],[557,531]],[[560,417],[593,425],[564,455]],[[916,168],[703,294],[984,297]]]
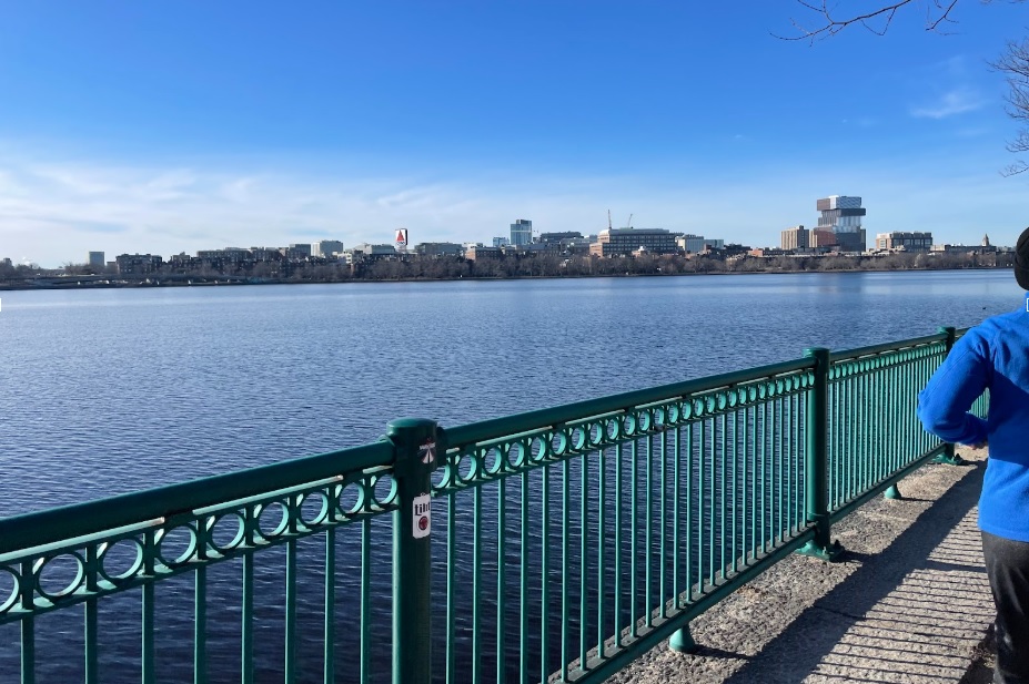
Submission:
[[[1021,297],[1008,270],[7,292],[0,515],[363,443],[400,416],[453,426],[970,326]]]

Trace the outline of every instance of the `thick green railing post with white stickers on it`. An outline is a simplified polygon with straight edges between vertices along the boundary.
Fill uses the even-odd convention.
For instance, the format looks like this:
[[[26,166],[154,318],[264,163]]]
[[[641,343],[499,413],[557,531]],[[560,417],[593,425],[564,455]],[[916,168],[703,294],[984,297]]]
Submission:
[[[430,572],[432,566],[432,470],[436,423],[421,418],[390,422],[396,447],[393,479],[393,684],[432,680]]]

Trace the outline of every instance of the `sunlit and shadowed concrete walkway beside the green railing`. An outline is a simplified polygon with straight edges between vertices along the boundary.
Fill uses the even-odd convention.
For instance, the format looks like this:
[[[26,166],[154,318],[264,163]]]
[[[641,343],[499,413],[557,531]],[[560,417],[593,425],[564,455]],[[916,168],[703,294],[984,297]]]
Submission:
[[[992,599],[976,503],[985,452],[926,466],[901,500],[877,499],[834,525],[836,563],[791,557],[693,624],[702,646],[663,644],[609,682],[986,684]]]

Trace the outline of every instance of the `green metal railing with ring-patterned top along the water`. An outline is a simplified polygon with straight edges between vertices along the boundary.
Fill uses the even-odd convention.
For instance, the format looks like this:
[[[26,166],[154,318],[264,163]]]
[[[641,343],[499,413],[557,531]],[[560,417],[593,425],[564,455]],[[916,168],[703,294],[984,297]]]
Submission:
[[[209,643],[223,593],[209,571],[229,564],[241,582],[218,615],[238,606],[243,682],[266,678],[265,575],[281,581],[285,682],[598,681],[664,639],[693,647],[690,620],[786,554],[831,559],[834,521],[929,459],[955,461],[915,415],[955,337],[809,349],[448,429],[396,420],[376,443],[0,520],[0,626],[17,623],[30,683],[50,636],[38,623],[58,611],[67,631],[81,606],[78,678],[99,682],[100,606],[130,592],[144,683],[171,641],[191,642],[195,682],[234,678],[223,657],[212,672],[223,645]],[[192,582],[175,585],[191,634],[155,600],[176,575]]]

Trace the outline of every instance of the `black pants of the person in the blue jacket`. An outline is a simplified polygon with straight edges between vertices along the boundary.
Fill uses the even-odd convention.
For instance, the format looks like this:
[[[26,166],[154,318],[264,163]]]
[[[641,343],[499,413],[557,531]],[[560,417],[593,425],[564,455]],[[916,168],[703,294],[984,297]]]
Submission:
[[[1029,543],[982,533],[997,605],[993,684],[1029,684]]]

